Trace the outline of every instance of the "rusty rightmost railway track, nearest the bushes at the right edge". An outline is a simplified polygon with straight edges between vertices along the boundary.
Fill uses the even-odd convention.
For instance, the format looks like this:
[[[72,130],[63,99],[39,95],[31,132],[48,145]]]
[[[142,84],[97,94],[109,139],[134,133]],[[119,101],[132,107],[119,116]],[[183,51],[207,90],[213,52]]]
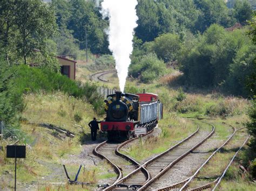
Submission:
[[[232,127],[233,128],[233,127]],[[180,181],[178,183],[175,183],[171,186],[166,186],[166,187],[161,187],[161,188],[158,188],[156,190],[170,190],[170,189],[179,189],[179,190],[203,190],[203,189],[207,189],[207,188],[211,188],[213,185],[216,185],[219,181],[220,181],[220,177],[221,176],[217,176],[217,178],[214,180],[214,181],[210,181],[209,180],[201,180],[201,181],[195,181],[196,180],[196,175],[199,174],[199,171],[201,169],[203,169],[203,167],[212,159],[212,157],[217,153],[219,152],[221,149],[223,149],[225,146],[227,146],[228,144],[231,144],[231,140],[234,138],[234,135],[235,133],[237,133],[237,131],[241,130],[242,128],[240,129],[234,129],[233,128],[233,133],[230,137],[228,137],[228,139],[225,141],[225,143],[223,143],[220,147],[218,147],[211,155],[210,157],[208,157],[205,162],[197,169],[197,171],[192,175],[190,176],[189,178],[183,180],[183,181]],[[247,142],[248,138],[245,140],[240,140],[240,142],[242,141],[242,146],[244,146],[244,144]],[[241,146],[241,147],[242,147]],[[241,149],[241,147],[239,148],[239,150]],[[238,151],[239,151],[238,150]],[[237,151],[237,153],[238,153]],[[236,154],[237,154],[236,153]],[[235,155],[236,155],[235,154]],[[232,159],[234,159],[235,155],[233,156]],[[230,162],[231,164],[231,162]],[[226,170],[227,170],[228,166],[226,167],[223,175],[225,174]],[[194,182],[193,182],[194,181]],[[192,183],[193,182],[193,183]],[[191,187],[190,185],[193,184],[193,186]]]

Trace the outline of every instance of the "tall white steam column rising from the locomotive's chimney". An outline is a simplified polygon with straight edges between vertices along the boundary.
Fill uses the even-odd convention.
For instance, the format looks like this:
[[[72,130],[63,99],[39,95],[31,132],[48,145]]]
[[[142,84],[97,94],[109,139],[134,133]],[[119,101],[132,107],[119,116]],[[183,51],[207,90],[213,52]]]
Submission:
[[[104,0],[102,15],[109,17],[109,49],[116,61],[119,87],[124,91],[128,68],[131,63],[133,29],[137,27],[137,0]]]

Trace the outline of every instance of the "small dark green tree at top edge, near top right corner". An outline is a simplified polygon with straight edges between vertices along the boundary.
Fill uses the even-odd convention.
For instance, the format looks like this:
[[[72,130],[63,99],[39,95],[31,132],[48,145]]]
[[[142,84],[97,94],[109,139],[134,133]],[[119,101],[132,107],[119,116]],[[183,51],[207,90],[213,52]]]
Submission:
[[[252,6],[247,0],[237,0],[234,4],[235,18],[240,23],[245,23],[246,20],[252,18]]]

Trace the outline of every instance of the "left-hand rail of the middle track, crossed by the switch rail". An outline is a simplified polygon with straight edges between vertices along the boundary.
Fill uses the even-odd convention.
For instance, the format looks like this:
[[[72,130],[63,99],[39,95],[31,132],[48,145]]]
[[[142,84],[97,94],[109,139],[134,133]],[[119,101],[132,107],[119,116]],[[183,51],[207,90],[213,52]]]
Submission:
[[[138,164],[138,168],[135,169],[133,172],[131,172],[130,174],[127,174],[124,178],[120,179],[117,183],[113,184],[112,187],[116,188],[118,186],[118,184],[127,181],[128,179],[131,178],[131,176],[135,175],[136,173],[138,173],[139,171],[144,171],[144,169],[146,169],[145,167],[149,164],[151,164],[154,160],[157,160],[158,158],[162,157],[163,155],[165,155],[166,153],[169,153],[170,151],[172,151],[174,148],[178,147],[181,143],[186,142],[186,140],[190,139],[191,137],[193,137],[199,130],[199,125],[196,131],[194,131],[191,135],[189,135],[188,137],[186,137],[185,139],[181,140],[179,143],[177,143],[176,145],[172,146],[171,148],[169,148],[168,150],[164,151],[163,153],[158,154],[156,157],[146,161],[143,165],[139,165]],[[147,169],[146,169],[147,171]],[[149,173],[147,171],[147,173]],[[149,173],[150,174],[150,173]],[[150,181],[150,178],[147,179],[144,183]]]

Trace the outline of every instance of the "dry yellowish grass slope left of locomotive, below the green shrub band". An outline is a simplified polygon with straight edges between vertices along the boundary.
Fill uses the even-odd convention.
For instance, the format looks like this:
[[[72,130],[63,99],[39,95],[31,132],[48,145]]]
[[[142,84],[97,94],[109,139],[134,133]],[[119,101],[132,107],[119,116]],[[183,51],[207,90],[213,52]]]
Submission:
[[[41,187],[42,183],[47,185],[48,182],[65,182],[62,162],[66,164],[70,176],[75,177],[83,161],[83,159],[76,161],[76,155],[86,147],[86,145],[81,146],[80,137],[84,133],[87,138],[90,137],[87,123],[96,116],[92,105],[60,92],[28,94],[24,96],[24,103],[26,108],[21,114],[21,131],[25,133],[28,145],[26,159],[18,159],[18,182],[34,184],[36,182],[38,187]],[[42,123],[54,124],[75,133],[76,136],[69,139],[57,131],[42,127],[40,125]],[[74,124],[83,126],[83,129]],[[87,139],[85,138],[84,141],[86,144]],[[7,142],[10,144],[13,141],[8,139]],[[13,185],[10,180],[14,177],[14,164],[12,159],[5,158],[4,152],[0,151],[0,155],[2,159],[0,173],[3,180],[1,187],[5,189]],[[80,174],[80,181],[97,183],[99,179],[115,176],[113,173],[103,173],[107,172],[105,162],[101,162],[98,166],[86,163],[84,165],[85,173]]]

